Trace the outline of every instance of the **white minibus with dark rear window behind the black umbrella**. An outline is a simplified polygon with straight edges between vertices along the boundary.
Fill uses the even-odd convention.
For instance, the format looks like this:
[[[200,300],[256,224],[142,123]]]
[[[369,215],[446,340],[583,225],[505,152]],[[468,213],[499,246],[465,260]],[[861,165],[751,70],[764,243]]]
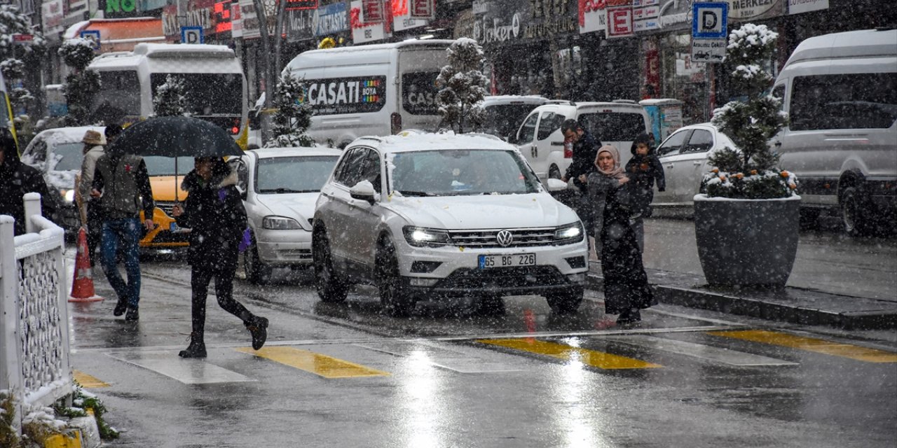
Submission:
[[[134,51],[100,55],[87,68],[100,73],[98,112],[120,111],[126,125],[152,116],[152,98],[173,74],[186,84],[189,114],[220,125],[246,148],[246,77],[231,48],[140,43]]]

